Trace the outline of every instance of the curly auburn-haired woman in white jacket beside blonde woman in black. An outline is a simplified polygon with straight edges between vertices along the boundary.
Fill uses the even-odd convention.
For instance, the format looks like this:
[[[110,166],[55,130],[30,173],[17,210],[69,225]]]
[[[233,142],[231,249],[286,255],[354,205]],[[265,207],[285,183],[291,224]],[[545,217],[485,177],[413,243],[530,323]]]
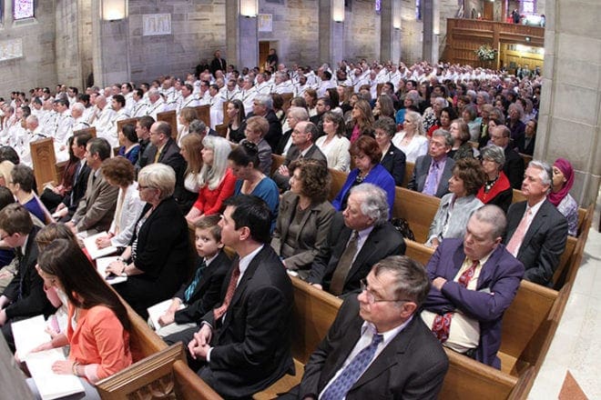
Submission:
[[[113,157],[102,162],[102,175],[108,185],[118,186],[117,208],[113,223],[106,236],[97,238],[97,246],[126,247],[134,234],[134,225],[144,207],[138,193],[138,182],[134,180],[136,170],[127,158]]]

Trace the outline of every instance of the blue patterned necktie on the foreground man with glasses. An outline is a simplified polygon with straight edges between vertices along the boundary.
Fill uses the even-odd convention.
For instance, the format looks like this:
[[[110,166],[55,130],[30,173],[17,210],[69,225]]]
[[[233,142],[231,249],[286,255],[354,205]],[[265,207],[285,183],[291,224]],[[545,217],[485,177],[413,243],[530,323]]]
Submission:
[[[351,363],[344,368],[340,375],[331,383],[330,386],[321,395],[321,400],[338,400],[344,398],[351,389],[352,385],[359,380],[367,366],[372,362],[378,345],[382,343],[382,335],[373,335],[372,343],[362,349],[359,354],[351,360]]]

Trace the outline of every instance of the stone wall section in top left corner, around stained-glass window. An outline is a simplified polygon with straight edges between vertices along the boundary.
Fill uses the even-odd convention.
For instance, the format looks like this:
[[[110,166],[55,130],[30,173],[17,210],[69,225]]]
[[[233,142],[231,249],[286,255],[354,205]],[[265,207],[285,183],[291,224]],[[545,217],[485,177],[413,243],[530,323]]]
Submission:
[[[5,7],[0,42],[21,39],[22,56],[0,61],[0,94],[56,82],[55,2],[36,2],[35,19],[15,22],[10,3]]]

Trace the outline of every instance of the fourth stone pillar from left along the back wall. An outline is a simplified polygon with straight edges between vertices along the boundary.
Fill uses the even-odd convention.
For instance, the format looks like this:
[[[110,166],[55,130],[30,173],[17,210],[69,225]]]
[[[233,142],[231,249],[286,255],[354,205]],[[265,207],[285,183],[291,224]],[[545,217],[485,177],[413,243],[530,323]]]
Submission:
[[[381,7],[380,60],[398,63],[401,57],[401,0],[382,0]],[[395,23],[398,24],[397,28],[394,27]]]

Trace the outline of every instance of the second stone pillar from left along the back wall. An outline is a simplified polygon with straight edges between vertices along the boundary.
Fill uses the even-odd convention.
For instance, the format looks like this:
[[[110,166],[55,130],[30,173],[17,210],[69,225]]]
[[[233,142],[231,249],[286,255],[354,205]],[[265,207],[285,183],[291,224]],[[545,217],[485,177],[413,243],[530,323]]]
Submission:
[[[226,45],[227,60],[235,60],[234,65],[259,65],[259,35],[257,17],[241,16],[239,0],[226,0]]]

